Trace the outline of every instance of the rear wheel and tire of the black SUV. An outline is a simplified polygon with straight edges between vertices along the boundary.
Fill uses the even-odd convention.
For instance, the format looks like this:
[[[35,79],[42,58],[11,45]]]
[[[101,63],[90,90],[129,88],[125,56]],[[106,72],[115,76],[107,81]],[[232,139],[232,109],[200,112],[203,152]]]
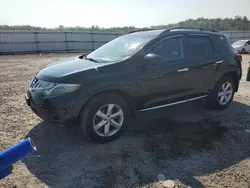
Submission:
[[[235,93],[235,82],[230,76],[222,77],[208,95],[208,105],[213,109],[224,109],[230,105]]]

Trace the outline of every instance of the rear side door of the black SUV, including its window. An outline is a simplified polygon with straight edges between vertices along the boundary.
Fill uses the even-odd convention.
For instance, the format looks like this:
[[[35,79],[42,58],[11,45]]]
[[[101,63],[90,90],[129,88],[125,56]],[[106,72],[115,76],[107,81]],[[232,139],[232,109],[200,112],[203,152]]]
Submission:
[[[190,96],[206,95],[215,83],[214,70],[223,60],[215,53],[212,38],[206,34],[187,35]]]

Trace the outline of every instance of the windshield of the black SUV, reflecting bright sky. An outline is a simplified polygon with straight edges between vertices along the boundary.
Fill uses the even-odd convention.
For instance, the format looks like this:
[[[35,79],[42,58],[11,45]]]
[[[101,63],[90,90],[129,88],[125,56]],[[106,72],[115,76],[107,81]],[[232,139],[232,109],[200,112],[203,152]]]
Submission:
[[[97,61],[120,61],[131,57],[154,36],[124,35],[90,53],[87,58]]]

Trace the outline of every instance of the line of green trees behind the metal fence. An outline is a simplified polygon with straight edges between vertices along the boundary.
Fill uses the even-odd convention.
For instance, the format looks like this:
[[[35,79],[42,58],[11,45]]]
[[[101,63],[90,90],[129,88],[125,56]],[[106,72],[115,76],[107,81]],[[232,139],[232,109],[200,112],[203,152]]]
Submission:
[[[246,16],[235,16],[234,18],[198,18],[198,19],[187,19],[185,21],[181,21],[175,24],[168,25],[157,25],[147,27],[149,29],[168,29],[171,27],[204,27],[210,29],[216,29],[219,31],[227,31],[227,30],[250,30],[250,20]],[[126,26],[126,27],[111,27],[111,28],[103,28],[98,25],[93,25],[92,27],[65,27],[63,25],[59,25],[56,28],[44,28],[44,27],[35,27],[30,25],[0,25],[0,30],[72,30],[72,31],[102,31],[102,32],[117,32],[117,33],[127,33],[129,31],[133,31],[136,29],[147,29],[147,28],[136,28],[134,26]]]

